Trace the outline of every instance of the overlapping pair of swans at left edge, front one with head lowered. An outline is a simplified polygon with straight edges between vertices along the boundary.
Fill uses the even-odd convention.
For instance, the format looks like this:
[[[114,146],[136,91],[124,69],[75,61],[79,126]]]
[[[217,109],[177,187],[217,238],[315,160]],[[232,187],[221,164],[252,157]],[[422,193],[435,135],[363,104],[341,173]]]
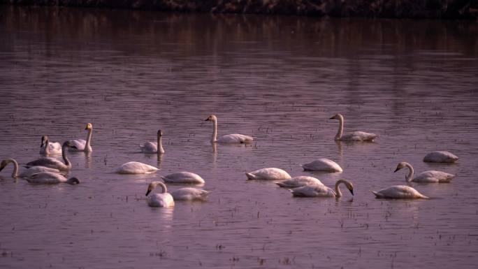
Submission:
[[[60,170],[55,168],[48,168],[45,166],[31,166],[27,168],[22,173],[18,174],[18,163],[15,159],[4,159],[0,163],[0,171],[5,168],[8,163],[13,163],[13,173],[12,177],[22,177],[30,183],[34,184],[57,184],[57,183],[68,183],[68,184],[79,184],[80,180],[76,177],[71,177],[67,179],[64,175],[60,173]]]

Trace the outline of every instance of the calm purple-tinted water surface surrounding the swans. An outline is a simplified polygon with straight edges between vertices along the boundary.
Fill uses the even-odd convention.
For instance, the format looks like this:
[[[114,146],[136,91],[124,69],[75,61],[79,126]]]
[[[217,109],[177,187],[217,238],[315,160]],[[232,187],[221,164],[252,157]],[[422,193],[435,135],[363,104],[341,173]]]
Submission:
[[[0,268],[475,268],[477,36],[476,22],[2,7],[0,158],[40,157],[44,134],[85,139],[87,122],[94,151],[69,154],[77,186],[0,172]],[[377,142],[336,144],[337,112]],[[256,142],[215,150],[212,113]],[[161,159],[138,147],[157,129]],[[423,163],[432,150],[460,160]],[[320,157],[344,173],[296,165]],[[126,161],[161,170],[114,174]],[[413,184],[429,201],[375,199],[405,184],[399,161],[457,177]],[[347,178],[355,196],[245,180],[263,167]],[[180,170],[209,201],[149,208],[148,182]]]

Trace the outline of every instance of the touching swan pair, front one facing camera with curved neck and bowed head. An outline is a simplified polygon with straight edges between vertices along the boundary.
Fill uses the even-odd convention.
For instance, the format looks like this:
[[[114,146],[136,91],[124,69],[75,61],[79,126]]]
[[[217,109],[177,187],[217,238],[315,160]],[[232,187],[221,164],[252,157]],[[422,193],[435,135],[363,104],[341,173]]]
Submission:
[[[157,186],[161,187],[161,193],[155,193],[150,196],[148,194],[156,188]],[[153,181],[149,184],[146,191],[146,202],[147,205],[153,208],[169,208],[174,206],[175,200],[182,201],[194,201],[194,200],[205,200],[208,198],[208,191],[203,189],[195,188],[182,188],[173,191],[171,194],[168,193],[166,184],[160,181]]]

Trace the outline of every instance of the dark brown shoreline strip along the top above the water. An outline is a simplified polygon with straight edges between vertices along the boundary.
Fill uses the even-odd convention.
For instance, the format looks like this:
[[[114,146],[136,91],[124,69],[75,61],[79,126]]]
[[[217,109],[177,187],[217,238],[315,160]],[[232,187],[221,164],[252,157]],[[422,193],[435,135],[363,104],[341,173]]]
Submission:
[[[3,5],[199,13],[477,20],[477,0],[0,0]]]

